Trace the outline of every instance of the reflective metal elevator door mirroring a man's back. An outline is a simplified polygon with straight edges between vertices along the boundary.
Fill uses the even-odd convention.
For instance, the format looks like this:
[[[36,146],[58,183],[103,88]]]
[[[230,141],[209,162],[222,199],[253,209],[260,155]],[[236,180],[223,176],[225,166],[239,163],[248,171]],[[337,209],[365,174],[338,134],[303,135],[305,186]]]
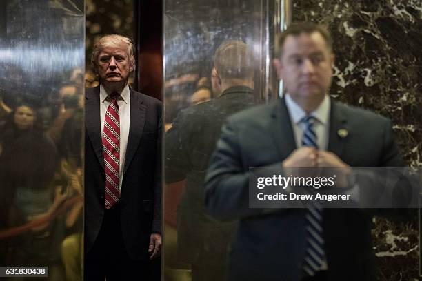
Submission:
[[[164,280],[224,280],[237,222],[217,222],[203,181],[225,118],[278,96],[276,1],[164,5]]]

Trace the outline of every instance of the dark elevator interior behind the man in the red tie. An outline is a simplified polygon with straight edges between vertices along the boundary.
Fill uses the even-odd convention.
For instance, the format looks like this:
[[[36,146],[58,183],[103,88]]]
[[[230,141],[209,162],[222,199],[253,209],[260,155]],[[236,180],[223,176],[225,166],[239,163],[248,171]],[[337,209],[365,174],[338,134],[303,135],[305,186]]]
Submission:
[[[137,67],[130,85],[139,92],[162,99],[161,1],[86,0],[86,87],[98,81],[91,68],[92,45],[106,34],[134,39]],[[161,258],[151,262],[150,280],[161,280]]]

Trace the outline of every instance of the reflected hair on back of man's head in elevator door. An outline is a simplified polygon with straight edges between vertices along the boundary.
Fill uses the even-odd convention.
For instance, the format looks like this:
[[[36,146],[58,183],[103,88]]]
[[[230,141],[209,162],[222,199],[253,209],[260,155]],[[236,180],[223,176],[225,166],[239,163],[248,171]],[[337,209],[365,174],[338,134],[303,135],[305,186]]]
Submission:
[[[224,41],[214,54],[214,67],[221,79],[245,79],[253,76],[252,55],[239,40]]]

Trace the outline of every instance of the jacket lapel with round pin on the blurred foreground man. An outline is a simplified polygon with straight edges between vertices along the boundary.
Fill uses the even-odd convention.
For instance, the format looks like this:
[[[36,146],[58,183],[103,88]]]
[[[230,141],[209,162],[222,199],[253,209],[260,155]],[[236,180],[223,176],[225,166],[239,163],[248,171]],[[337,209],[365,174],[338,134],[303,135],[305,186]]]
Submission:
[[[339,104],[331,99],[330,132],[328,137],[328,151],[333,152],[339,158],[343,156],[345,140],[350,134],[347,118],[341,111]]]

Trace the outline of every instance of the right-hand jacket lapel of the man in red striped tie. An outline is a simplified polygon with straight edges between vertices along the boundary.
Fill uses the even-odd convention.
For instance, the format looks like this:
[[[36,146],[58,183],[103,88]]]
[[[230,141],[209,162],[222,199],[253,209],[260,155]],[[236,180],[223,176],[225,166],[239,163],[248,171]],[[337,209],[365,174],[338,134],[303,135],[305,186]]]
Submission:
[[[128,170],[132,158],[137,152],[145,125],[146,106],[140,95],[130,89],[130,125],[128,147],[126,148],[124,173]]]

